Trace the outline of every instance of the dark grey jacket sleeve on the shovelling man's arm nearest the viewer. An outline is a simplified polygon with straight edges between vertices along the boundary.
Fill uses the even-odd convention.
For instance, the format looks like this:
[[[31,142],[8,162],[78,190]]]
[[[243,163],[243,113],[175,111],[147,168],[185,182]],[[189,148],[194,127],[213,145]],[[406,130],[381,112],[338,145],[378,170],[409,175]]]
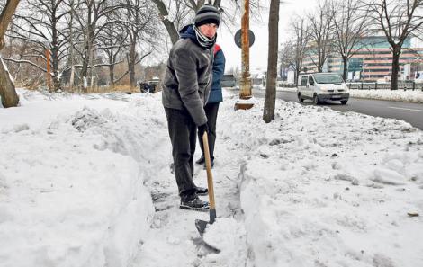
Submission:
[[[198,93],[197,67],[191,53],[181,49],[175,54],[175,75],[179,82],[179,94],[185,108],[197,126],[207,122],[202,99]]]

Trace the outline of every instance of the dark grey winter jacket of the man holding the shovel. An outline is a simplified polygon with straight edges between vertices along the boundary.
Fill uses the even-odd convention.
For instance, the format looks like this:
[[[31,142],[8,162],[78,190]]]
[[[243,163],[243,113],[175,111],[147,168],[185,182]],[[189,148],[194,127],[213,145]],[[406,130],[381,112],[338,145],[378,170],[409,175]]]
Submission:
[[[166,108],[186,109],[200,126],[207,122],[203,106],[211,88],[212,51],[200,47],[191,25],[180,33],[167,60],[162,102]]]

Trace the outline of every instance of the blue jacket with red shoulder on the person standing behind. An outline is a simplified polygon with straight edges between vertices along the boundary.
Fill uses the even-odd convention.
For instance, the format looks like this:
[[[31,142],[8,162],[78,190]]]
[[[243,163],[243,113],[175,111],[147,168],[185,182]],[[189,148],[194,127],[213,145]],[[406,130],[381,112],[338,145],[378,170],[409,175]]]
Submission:
[[[221,77],[225,73],[225,55],[219,45],[214,45],[213,82],[208,102],[222,102]]]

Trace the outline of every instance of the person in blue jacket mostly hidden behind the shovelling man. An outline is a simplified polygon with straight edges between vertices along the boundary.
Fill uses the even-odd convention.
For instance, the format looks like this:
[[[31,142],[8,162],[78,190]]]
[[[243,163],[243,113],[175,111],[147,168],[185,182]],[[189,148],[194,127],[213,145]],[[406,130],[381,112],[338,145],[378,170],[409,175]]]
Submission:
[[[218,118],[219,104],[223,101],[221,93],[221,78],[225,73],[225,55],[219,45],[214,46],[214,62],[213,62],[213,82],[211,84],[211,91],[209,101],[204,107],[207,116],[207,125],[209,127],[209,150],[211,167],[214,166],[214,144],[216,142],[216,121]],[[198,135],[200,147],[202,148],[202,156],[195,162],[195,165],[204,165],[204,147],[202,144],[202,136]]]

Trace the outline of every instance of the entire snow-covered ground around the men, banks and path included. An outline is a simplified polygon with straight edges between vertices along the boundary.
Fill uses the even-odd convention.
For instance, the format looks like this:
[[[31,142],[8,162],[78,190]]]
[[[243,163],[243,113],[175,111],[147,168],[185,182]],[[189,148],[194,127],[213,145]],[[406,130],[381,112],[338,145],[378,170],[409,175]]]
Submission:
[[[216,253],[208,213],[178,208],[160,93],[18,93],[0,108],[2,267],[423,263],[423,133],[404,121],[277,100],[266,124],[226,92]]]

